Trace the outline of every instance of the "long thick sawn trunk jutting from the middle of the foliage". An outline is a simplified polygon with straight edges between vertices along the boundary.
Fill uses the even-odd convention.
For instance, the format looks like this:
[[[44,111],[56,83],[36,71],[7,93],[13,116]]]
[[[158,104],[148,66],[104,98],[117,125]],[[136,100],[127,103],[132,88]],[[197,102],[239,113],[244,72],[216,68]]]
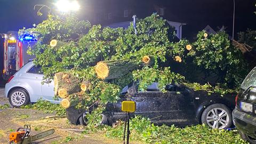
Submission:
[[[94,67],[94,70],[100,79],[114,79],[142,66],[142,62],[135,62],[133,60],[100,61]]]

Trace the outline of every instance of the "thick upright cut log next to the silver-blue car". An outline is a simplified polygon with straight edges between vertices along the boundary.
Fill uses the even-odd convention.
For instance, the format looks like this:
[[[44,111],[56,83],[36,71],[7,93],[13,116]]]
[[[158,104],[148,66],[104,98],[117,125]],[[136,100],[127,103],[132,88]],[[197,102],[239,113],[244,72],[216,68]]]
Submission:
[[[68,72],[54,75],[54,93],[60,98],[66,98],[70,94],[81,91],[79,85],[79,79]]]

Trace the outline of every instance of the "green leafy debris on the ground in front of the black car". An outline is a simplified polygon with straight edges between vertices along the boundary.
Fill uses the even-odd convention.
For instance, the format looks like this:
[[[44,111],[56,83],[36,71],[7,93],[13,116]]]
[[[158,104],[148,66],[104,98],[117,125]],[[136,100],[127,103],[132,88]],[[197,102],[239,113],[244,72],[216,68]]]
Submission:
[[[108,127],[106,136],[123,138],[124,125]],[[135,116],[131,120],[130,138],[146,143],[247,143],[234,131],[210,129],[203,125],[178,128],[172,126],[156,126],[148,118]]]

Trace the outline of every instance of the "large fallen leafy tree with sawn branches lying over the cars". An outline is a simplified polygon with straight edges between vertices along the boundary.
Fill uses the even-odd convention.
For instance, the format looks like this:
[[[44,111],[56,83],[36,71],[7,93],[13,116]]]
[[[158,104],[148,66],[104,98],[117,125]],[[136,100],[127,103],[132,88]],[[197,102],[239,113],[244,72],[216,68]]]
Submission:
[[[246,63],[242,54],[230,44],[225,31],[216,35],[200,31],[196,41],[191,43],[186,39],[175,41],[174,29],[157,14],[137,19],[137,34],[133,23],[127,29],[91,27],[83,23],[51,17],[51,21],[44,21],[33,29],[44,35],[38,35],[36,47],[29,52],[36,55],[34,63],[42,66],[44,78],[54,77],[55,94],[64,98],[61,105],[65,108],[88,109],[99,101],[97,109],[103,110],[107,102],[116,102],[122,87],[132,81],[140,81],[138,88],[142,91],[153,82],[158,82],[163,92],[165,85],[172,82],[204,87],[191,86],[193,79],[189,79],[190,82],[185,79],[186,75],[195,76],[193,70],[198,67],[223,75],[218,82],[221,83],[218,91],[222,93],[240,84],[249,70],[241,68],[246,67]],[[66,25],[74,28],[66,29]],[[58,29],[52,31],[50,26],[61,27],[67,34]],[[76,33],[79,37],[72,38]],[[52,39],[57,39],[57,44],[58,41],[67,44],[52,47]],[[175,66],[183,68],[182,75],[172,71]],[[188,71],[189,68],[192,71]]]

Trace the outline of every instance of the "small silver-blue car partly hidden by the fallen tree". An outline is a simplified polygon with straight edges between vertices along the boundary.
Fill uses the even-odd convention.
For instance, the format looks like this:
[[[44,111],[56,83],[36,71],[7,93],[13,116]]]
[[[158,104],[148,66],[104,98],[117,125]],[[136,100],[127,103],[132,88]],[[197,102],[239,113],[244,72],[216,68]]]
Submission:
[[[24,65],[17,73],[10,77],[5,85],[5,97],[13,107],[25,106],[29,102],[37,102],[38,99],[59,103],[53,100],[54,84],[42,83],[43,74],[33,61]]]

